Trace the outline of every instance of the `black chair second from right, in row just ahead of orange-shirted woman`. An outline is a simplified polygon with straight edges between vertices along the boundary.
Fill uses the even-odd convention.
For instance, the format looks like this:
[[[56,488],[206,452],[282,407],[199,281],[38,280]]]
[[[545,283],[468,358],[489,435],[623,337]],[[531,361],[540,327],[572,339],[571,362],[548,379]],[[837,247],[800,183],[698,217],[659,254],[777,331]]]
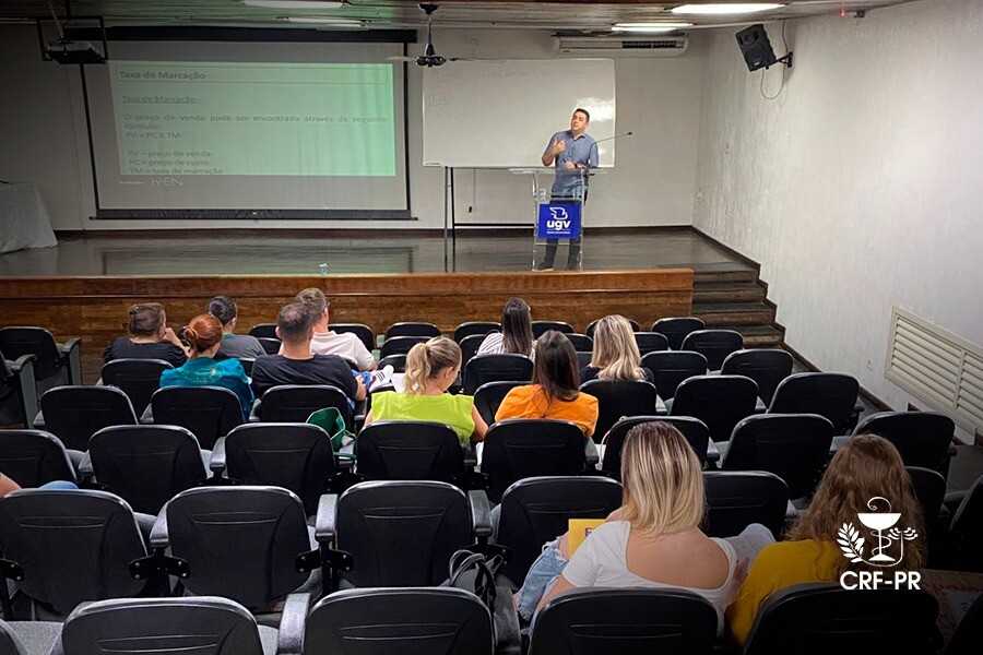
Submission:
[[[672,416],[692,416],[710,428],[710,439],[726,441],[734,426],[755,413],[758,385],[744,376],[695,376],[684,380],[672,403]]]

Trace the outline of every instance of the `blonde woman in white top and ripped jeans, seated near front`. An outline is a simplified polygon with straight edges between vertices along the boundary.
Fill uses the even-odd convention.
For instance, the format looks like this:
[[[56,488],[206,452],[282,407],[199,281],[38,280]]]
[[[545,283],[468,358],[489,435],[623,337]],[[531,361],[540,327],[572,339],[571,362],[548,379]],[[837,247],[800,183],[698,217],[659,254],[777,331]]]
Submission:
[[[568,535],[543,549],[517,595],[523,618],[573,587],[677,587],[723,611],[737,555],[727,541],[700,532],[703,474],[683,434],[661,421],[631,428],[621,484],[621,507],[572,556]]]

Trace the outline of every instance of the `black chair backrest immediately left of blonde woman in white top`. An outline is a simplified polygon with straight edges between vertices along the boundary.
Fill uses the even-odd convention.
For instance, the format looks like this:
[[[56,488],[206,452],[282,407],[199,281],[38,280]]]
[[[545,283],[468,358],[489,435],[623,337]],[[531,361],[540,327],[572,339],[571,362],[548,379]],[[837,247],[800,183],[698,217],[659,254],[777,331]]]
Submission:
[[[567,532],[570,519],[606,519],[621,507],[621,485],[602,476],[529,477],[508,488],[500,507],[496,544],[512,555],[501,573],[521,585],[543,544]]]

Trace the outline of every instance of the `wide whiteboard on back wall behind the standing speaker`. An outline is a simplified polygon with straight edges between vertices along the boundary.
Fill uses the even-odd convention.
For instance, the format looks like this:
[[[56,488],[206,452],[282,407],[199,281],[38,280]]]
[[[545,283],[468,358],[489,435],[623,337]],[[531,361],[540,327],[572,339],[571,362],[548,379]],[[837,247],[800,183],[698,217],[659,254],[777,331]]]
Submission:
[[[423,104],[424,166],[542,166],[578,107],[591,115],[588,134],[614,136],[614,60],[451,61],[424,71]],[[615,141],[597,150],[601,167],[613,167]]]

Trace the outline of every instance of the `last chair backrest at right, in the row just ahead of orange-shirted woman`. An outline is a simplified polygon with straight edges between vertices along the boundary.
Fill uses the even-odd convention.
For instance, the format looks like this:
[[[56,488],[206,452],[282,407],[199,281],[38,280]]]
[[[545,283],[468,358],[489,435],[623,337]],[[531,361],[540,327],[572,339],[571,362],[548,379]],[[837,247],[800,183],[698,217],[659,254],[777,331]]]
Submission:
[[[842,434],[850,426],[858,391],[856,378],[844,373],[792,373],[774,390],[768,414],[818,414]]]

